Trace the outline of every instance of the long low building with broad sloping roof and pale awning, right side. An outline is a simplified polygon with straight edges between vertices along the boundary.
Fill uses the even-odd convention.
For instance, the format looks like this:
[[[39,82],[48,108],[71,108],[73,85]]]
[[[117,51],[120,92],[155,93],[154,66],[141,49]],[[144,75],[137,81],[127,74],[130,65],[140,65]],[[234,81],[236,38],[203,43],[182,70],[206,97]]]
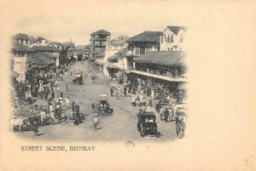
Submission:
[[[134,59],[135,67],[128,79],[136,83],[137,78],[149,83],[160,83],[174,94],[178,103],[186,100],[187,67],[183,51],[160,51],[143,54]]]

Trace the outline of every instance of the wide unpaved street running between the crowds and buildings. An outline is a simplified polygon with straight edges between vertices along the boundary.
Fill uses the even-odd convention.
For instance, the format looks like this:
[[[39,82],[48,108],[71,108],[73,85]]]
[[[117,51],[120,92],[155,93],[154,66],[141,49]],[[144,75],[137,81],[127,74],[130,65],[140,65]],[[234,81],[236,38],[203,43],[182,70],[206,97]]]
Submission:
[[[71,71],[83,71],[83,73],[88,72],[90,75],[95,75],[90,71],[89,66],[82,64],[81,62],[75,63]],[[110,86],[108,81],[105,79],[97,79],[97,83],[92,83],[90,77],[84,80],[84,84],[73,84],[72,80],[74,74],[71,77],[63,76],[62,79],[58,78],[58,84],[60,85],[60,90],[64,94],[64,99],[67,95],[70,98],[70,105],[74,101],[76,105],[80,106],[80,112],[85,115],[84,123],[79,125],[73,125],[73,120],[67,119],[67,123],[61,122],[57,123],[55,119],[55,124],[50,124],[44,127],[39,127],[39,135],[34,136],[32,131],[26,131],[22,133],[16,133],[17,136],[26,137],[26,139],[32,140],[53,140],[57,141],[111,141],[120,140],[133,142],[159,142],[166,140],[174,140],[175,134],[175,121],[164,122],[160,120],[160,115],[155,112],[154,107],[152,111],[156,114],[156,122],[158,125],[158,130],[160,131],[160,138],[155,137],[141,137],[137,131],[137,106],[131,105],[131,97],[122,97],[120,100],[116,100],[115,96],[110,95]],[[66,91],[66,83],[68,84],[68,92]],[[97,102],[99,100],[100,94],[108,94],[109,105],[113,108],[112,116],[99,116],[99,125],[97,130],[94,128],[93,119],[95,113],[92,112],[91,103]],[[148,102],[148,100],[146,100]],[[66,105],[63,107],[64,112],[67,116],[70,115],[71,106],[66,111]]]

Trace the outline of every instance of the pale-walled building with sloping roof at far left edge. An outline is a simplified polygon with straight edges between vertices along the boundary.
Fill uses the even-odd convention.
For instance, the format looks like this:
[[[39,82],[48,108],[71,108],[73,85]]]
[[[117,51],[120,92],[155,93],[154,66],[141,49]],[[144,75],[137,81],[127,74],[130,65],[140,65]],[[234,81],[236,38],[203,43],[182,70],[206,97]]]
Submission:
[[[12,43],[11,54],[12,59],[14,60],[14,71],[19,74],[17,81],[25,83],[26,72],[32,69],[32,56],[34,50],[26,47],[22,43],[14,41]]]

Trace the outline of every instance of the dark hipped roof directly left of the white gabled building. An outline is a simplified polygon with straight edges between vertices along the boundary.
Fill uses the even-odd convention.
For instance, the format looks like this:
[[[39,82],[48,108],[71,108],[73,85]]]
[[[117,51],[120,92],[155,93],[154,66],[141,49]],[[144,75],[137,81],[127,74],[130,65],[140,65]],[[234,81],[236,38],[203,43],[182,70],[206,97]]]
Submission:
[[[144,31],[141,34],[138,34],[134,37],[131,37],[127,42],[155,42],[160,43],[161,31]]]

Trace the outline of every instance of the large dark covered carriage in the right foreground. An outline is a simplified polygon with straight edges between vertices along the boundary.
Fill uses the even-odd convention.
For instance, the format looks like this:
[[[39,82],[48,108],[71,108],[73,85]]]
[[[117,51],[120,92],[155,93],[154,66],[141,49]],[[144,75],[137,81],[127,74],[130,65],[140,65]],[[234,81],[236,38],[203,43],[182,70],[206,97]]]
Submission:
[[[157,124],[155,122],[155,115],[152,111],[143,111],[143,113],[137,114],[137,130],[141,136],[153,135],[160,137],[160,132],[157,130]]]

